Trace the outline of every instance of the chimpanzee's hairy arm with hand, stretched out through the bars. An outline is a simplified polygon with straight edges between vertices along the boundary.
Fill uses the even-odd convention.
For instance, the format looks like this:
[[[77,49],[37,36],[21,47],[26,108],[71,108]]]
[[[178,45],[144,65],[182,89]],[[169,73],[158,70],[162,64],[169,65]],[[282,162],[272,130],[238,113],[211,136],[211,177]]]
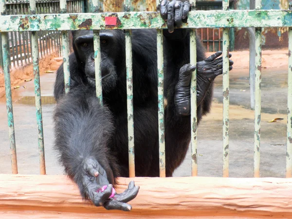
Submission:
[[[108,146],[114,130],[110,111],[89,89],[78,86],[58,101],[54,123],[59,160],[81,195],[108,210],[131,210],[126,202],[136,197],[139,187],[131,182],[121,194],[112,188],[118,165]]]

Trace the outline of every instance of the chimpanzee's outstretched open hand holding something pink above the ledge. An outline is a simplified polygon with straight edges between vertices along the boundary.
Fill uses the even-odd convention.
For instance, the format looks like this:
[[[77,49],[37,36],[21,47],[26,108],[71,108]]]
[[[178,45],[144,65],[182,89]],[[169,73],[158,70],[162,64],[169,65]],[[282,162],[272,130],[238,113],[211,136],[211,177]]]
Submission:
[[[108,181],[105,169],[92,158],[87,159],[83,167],[82,183],[85,188],[85,196],[95,206],[104,206],[107,210],[130,211],[132,209],[132,206],[127,204],[127,202],[137,196],[139,186],[135,186],[135,183],[131,181],[128,184],[128,189],[120,194],[114,192],[114,196],[110,198],[113,188]],[[107,188],[102,191],[102,187],[105,185],[107,185]]]

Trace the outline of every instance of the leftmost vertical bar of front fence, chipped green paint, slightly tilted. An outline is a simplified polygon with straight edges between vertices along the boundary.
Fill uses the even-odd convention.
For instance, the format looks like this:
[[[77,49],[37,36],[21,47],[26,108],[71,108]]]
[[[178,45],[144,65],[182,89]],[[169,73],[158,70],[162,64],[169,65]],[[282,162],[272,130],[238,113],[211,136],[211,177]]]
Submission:
[[[0,1],[0,13],[2,15],[6,14],[5,2],[6,0]],[[7,109],[7,119],[8,119],[11,167],[12,167],[12,173],[18,174],[13,106],[12,106],[12,96],[11,96],[11,82],[10,82],[10,71],[9,71],[10,56],[9,56],[8,51],[9,51],[10,46],[8,42],[8,33],[1,33],[1,43],[2,43],[1,46],[2,46],[3,72],[4,72],[4,81],[5,81],[6,109]]]

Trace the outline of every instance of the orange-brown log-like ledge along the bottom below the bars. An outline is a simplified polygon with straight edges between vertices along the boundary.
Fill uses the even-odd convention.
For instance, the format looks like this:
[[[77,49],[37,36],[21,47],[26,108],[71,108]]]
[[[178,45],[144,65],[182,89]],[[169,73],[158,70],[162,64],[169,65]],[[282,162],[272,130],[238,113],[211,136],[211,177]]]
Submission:
[[[84,203],[66,176],[0,174],[0,218],[292,218],[292,178],[120,178],[131,212]]]

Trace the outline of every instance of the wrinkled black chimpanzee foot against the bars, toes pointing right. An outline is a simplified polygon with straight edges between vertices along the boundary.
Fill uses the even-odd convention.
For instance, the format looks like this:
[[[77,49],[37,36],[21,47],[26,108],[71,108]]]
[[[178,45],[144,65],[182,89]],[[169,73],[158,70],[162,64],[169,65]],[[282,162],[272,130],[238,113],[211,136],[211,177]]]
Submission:
[[[201,104],[214,79],[223,72],[223,59],[218,58],[221,51],[207,59],[197,62],[197,107]],[[229,58],[231,54],[229,54]],[[229,70],[232,70],[233,61],[229,59]],[[190,115],[191,108],[191,77],[196,66],[186,64],[180,69],[179,81],[175,87],[174,103],[178,113],[183,116]]]

